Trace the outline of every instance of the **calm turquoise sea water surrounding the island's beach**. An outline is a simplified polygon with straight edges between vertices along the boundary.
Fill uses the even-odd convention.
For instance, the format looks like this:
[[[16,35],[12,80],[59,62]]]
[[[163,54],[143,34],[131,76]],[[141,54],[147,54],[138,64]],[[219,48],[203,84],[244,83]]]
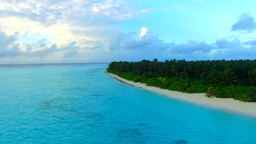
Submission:
[[[256,143],[256,118],[121,84],[107,67],[1,68],[0,143]]]

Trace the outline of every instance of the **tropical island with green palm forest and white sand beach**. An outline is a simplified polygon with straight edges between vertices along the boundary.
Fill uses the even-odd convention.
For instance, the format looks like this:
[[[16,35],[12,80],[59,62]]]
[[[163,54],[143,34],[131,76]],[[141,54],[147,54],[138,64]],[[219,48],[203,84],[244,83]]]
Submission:
[[[123,83],[175,99],[256,116],[254,63],[256,60],[114,61],[107,72]]]

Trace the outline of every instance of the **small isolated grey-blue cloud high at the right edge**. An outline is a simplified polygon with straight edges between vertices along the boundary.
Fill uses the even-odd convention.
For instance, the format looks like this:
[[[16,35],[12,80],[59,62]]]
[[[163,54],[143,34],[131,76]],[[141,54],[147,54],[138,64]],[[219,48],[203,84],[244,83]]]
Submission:
[[[238,19],[238,22],[232,25],[231,31],[252,31],[256,30],[256,22],[254,17],[249,13],[243,13]]]

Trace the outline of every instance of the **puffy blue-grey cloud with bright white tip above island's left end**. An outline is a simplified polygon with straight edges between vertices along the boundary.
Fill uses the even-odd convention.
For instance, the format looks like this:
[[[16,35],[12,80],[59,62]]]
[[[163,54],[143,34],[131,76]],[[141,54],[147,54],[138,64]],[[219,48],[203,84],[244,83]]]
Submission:
[[[166,43],[145,27],[140,33],[118,32],[110,40],[109,52],[105,55],[109,60],[158,60],[170,59],[169,50],[174,43]]]

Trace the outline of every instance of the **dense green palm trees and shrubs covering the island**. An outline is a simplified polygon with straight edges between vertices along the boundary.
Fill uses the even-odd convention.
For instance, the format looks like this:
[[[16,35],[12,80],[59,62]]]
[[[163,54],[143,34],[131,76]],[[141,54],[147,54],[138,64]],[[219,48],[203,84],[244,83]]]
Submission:
[[[256,60],[114,61],[107,72],[162,89],[256,102]]]

